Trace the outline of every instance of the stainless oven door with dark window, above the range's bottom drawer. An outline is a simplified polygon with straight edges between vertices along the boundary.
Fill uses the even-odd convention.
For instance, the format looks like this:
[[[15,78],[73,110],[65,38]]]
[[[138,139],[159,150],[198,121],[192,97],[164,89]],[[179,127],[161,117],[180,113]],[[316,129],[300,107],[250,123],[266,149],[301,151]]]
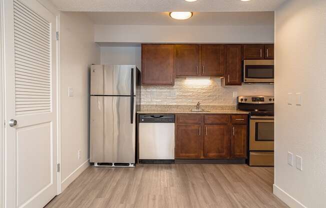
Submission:
[[[274,150],[274,119],[271,116],[251,116],[249,150]]]

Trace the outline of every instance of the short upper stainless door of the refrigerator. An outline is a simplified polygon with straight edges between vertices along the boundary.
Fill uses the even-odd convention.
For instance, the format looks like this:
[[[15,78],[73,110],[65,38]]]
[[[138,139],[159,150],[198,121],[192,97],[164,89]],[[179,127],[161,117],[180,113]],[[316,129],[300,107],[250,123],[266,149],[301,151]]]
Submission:
[[[135,65],[91,65],[91,95],[133,95]]]

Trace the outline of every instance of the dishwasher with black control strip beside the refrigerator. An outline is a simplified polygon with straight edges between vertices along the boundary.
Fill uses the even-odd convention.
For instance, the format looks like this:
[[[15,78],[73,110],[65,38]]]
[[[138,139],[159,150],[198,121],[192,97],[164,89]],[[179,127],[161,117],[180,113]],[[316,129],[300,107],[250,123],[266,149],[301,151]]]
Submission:
[[[139,115],[139,163],[174,162],[174,115]]]

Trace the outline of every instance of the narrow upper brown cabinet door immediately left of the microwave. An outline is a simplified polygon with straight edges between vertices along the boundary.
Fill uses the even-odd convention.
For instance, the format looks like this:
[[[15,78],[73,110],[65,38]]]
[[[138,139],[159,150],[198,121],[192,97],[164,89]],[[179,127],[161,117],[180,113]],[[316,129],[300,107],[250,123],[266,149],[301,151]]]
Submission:
[[[225,85],[241,85],[242,46],[226,45]]]

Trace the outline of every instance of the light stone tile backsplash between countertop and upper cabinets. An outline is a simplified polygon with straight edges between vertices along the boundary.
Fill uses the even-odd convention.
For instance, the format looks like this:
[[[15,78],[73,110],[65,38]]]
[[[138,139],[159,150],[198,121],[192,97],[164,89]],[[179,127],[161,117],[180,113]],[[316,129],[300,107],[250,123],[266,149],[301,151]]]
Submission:
[[[174,86],[141,86],[141,104],[235,105],[236,96],[273,95],[273,84],[222,86],[221,79],[176,78]],[[235,97],[233,97],[233,92]]]

